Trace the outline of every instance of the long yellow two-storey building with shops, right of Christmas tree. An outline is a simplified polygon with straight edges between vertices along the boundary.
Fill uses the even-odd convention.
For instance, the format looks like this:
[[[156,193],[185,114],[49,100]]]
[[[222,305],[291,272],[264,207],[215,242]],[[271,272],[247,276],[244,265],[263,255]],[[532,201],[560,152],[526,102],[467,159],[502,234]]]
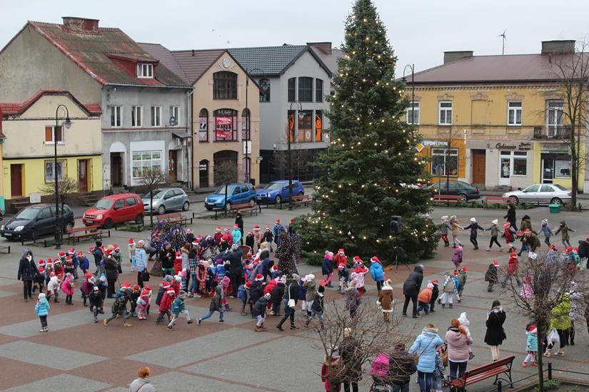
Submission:
[[[406,120],[423,135],[421,155],[431,159],[433,177],[449,174],[487,189],[570,188],[568,128],[553,56],[574,50],[575,41],[545,41],[540,54],[445,52],[443,65],[416,73],[406,90],[411,100],[413,87],[415,96]],[[584,167],[579,180],[583,190]]]

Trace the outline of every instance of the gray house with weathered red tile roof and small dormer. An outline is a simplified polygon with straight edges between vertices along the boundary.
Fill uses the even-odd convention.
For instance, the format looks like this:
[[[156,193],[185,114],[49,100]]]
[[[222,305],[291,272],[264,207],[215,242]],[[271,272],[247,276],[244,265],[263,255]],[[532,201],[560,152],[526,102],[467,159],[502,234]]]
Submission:
[[[0,101],[55,89],[100,102],[105,190],[139,185],[149,168],[191,182],[191,86],[120,29],[63,22],[29,21],[0,51]]]

